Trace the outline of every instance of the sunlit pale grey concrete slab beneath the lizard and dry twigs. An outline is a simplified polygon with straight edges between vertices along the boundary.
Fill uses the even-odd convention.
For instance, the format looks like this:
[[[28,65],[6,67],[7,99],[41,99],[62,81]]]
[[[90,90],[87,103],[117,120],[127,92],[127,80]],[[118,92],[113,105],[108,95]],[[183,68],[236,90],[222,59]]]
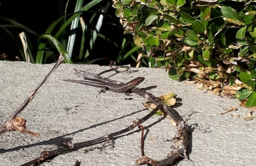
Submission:
[[[0,124],[25,100],[52,68],[53,64],[33,65],[25,62],[0,61]],[[99,88],[64,82],[62,79],[82,79],[72,73],[72,69],[99,73],[108,67],[97,65],[62,64],[41,87],[36,97],[22,111],[20,116],[27,119],[27,129],[40,134],[38,138],[19,132],[7,132],[0,135],[0,165],[21,165],[39,157],[44,148],[61,146],[62,140],[73,143],[101,137],[126,128],[133,119],[145,116],[148,111],[141,104],[145,99],[133,94],[127,96],[111,91],[98,94]],[[157,86],[148,90],[159,96],[174,92],[180,98],[180,115],[188,117],[192,111],[197,113],[189,117],[188,125],[198,125],[201,130],[192,131],[187,160],[177,161],[183,166],[218,165],[255,165],[255,126],[256,120],[243,121],[248,111],[239,107],[235,99],[221,98],[203,93],[196,85],[186,85],[172,81],[162,69],[140,68],[136,72],[111,72],[103,76],[127,82],[138,76],[145,81],[138,87]],[[238,110],[240,118],[227,113],[219,114],[231,106]],[[74,114],[67,115],[67,112]],[[172,142],[164,142],[174,136],[176,128],[167,118],[154,116],[142,124],[147,128],[145,154],[154,159],[162,159],[170,150]],[[208,128],[208,129],[206,129]],[[206,129],[205,133],[203,130]],[[114,149],[107,146],[102,153],[99,150],[83,153],[83,149],[66,153],[54,158],[47,165],[71,166],[76,160],[81,165],[135,165],[141,156],[140,135],[138,129],[115,140]],[[148,140],[148,138],[157,138]],[[192,163],[193,162],[193,163]],[[175,163],[176,164],[176,163]]]

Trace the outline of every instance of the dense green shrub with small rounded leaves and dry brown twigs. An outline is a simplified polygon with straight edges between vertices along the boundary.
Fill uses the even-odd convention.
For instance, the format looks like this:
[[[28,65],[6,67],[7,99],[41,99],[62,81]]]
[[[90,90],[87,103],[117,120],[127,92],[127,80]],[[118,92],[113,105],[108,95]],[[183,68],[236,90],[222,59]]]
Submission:
[[[256,105],[256,1],[114,0],[125,33],[156,56],[174,80],[234,85],[238,99]],[[241,97],[242,96],[242,97]]]

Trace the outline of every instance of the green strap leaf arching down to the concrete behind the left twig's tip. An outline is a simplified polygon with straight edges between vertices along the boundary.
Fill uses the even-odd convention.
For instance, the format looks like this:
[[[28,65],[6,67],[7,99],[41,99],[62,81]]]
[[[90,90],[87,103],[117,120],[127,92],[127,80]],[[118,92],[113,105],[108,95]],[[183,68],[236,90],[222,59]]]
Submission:
[[[55,45],[55,47],[57,48],[57,50],[59,51],[59,53],[63,53],[64,57],[65,57],[65,63],[70,63],[72,64],[73,62],[71,61],[68,53],[66,52],[66,50],[64,49],[64,47],[62,46],[62,44],[59,42],[59,40],[57,40],[53,35],[50,34],[42,34],[40,36],[40,38],[44,38],[44,39],[48,39],[50,41],[53,42],[53,44]]]

